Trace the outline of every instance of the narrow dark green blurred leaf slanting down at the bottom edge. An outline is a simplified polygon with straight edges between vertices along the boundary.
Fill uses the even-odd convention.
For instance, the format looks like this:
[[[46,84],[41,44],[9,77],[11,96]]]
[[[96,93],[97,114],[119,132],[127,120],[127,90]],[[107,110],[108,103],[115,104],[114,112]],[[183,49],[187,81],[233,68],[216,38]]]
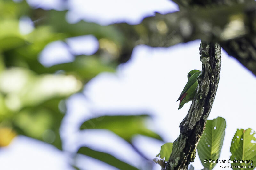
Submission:
[[[90,157],[95,158],[95,159],[98,159],[98,160],[100,160],[102,162],[105,162],[109,165],[112,165],[112,166],[114,166],[114,167],[116,167],[120,170],[139,170],[136,167],[134,167],[132,165],[129,165],[126,162],[123,162],[123,161],[117,159],[116,157],[114,157],[114,156],[112,156],[108,153],[95,151],[95,150],[92,150],[88,147],[81,147],[78,150],[78,153],[90,156]]]

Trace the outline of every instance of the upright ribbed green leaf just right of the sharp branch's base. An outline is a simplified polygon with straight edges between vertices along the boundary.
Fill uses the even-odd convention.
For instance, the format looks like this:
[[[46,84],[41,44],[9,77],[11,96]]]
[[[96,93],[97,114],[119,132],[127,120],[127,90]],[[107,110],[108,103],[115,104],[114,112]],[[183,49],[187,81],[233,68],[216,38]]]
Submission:
[[[207,120],[205,130],[198,143],[197,151],[203,166],[212,170],[216,165],[215,160],[219,159],[225,136],[226,121],[222,117]],[[212,160],[212,162],[204,160]]]

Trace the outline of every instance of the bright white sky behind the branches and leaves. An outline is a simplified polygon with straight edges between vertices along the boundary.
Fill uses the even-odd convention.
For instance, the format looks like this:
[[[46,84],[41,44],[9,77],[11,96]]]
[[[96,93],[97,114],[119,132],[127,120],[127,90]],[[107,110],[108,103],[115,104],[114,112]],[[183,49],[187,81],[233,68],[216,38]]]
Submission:
[[[34,5],[38,6],[36,1],[33,0]],[[50,5],[45,5],[47,3]],[[46,9],[56,8],[56,4],[58,5],[57,0],[43,3]],[[153,15],[154,11],[166,13],[177,10],[177,6],[167,0],[131,0],[129,2],[110,0],[108,3],[100,0],[74,0],[69,4],[70,12],[67,15],[69,22],[84,18],[100,24],[118,21],[136,24],[144,16]],[[86,37],[83,38],[84,40],[79,41],[85,43],[87,50],[77,45],[72,49],[75,53],[93,53],[98,44],[92,36],[87,38],[91,39],[94,46],[88,43]],[[63,52],[61,42],[54,43],[58,48],[50,46],[46,48],[55,49],[53,54],[56,55],[47,58],[45,56],[49,51],[48,53],[47,50],[44,51],[46,55],[43,53],[40,55],[40,61],[43,64],[50,66],[73,60],[68,52]],[[70,43],[75,42],[70,40]],[[159,133],[166,142],[173,142],[180,133],[179,124],[186,116],[191,104],[189,102],[178,110],[179,103],[176,100],[187,83],[188,72],[193,69],[201,70],[199,45],[200,41],[196,40],[170,48],[150,48],[144,45],[136,47],[132,52],[131,60],[120,65],[116,73],[101,73],[87,83],[84,87],[84,95],[75,94],[67,100],[68,110],[61,127],[63,147],[67,152],[63,154],[51,145],[19,136],[10,146],[1,148],[0,169],[71,170],[72,168],[68,166],[71,161],[68,159],[68,152],[75,152],[82,144],[108,152],[143,169],[140,156],[118,136],[105,130],[86,130],[81,133],[78,132],[79,124],[102,113],[140,114],[146,111],[153,117],[148,122],[148,127]],[[62,60],[62,55],[65,56],[63,57],[65,61]],[[222,51],[221,64],[220,83],[209,119],[218,116],[226,119],[226,135],[220,159],[228,160],[231,155],[230,144],[236,128],[256,129],[254,96],[256,78],[235,59],[229,57],[225,51]],[[92,113],[98,113],[98,115]],[[134,142],[149,159],[153,159],[159,153],[163,144],[143,136],[136,137]],[[90,157],[79,157],[77,162],[82,170],[116,170]],[[192,164],[195,169],[203,168],[198,155]],[[144,169],[146,170],[145,167]],[[154,166],[154,170],[159,169],[159,165]],[[220,166],[216,165],[214,169],[220,170]]]

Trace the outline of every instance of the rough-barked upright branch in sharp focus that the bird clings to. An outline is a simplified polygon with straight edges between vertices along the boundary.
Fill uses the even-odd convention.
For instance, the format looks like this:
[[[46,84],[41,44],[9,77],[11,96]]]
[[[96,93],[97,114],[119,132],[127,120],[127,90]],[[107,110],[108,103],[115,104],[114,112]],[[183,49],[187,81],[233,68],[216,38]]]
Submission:
[[[221,48],[217,43],[201,43],[202,72],[187,116],[180,123],[180,135],[164,170],[186,170],[196,156],[197,144],[202,136],[212,108],[220,78]]]

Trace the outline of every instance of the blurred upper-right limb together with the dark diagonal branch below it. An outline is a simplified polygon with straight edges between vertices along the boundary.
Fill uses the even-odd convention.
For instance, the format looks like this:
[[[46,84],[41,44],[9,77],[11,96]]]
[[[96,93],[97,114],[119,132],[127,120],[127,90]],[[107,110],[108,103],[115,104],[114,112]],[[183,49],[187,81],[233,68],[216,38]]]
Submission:
[[[121,50],[125,53],[120,52],[123,62],[129,59],[127,49],[138,44],[169,47],[201,39],[220,43],[229,55],[256,75],[255,1],[232,6],[215,5],[214,8],[188,8],[165,15],[156,13],[138,25],[122,23],[114,26],[127,35],[127,45]]]

